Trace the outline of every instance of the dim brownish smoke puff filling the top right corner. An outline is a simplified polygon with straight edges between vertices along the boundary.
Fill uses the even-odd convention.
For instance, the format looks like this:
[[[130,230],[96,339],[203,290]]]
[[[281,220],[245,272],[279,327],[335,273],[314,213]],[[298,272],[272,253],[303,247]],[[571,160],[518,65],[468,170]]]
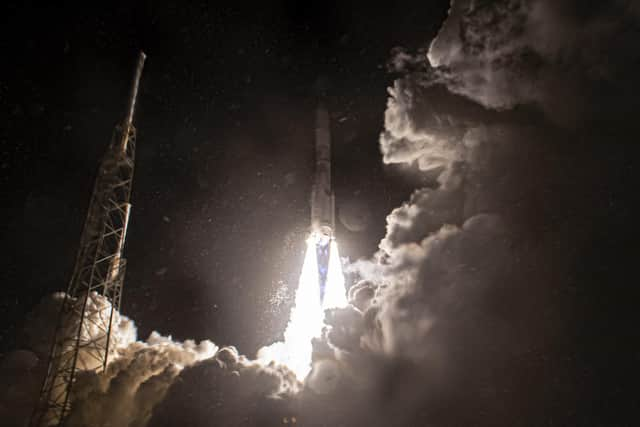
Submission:
[[[624,0],[459,0],[427,56],[454,93],[500,110],[534,103],[576,125],[629,79],[638,59],[634,10]]]

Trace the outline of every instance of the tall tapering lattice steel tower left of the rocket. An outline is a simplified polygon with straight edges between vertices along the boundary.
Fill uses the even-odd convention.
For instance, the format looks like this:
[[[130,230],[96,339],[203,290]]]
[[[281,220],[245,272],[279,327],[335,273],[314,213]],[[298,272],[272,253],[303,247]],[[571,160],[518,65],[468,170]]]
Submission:
[[[127,116],[116,125],[98,169],[47,376],[30,420],[32,427],[64,425],[73,404],[71,389],[76,371],[104,370],[112,351],[113,315],[120,308],[126,266],[122,248],[131,209],[136,144],[133,112],[145,58],[140,52]]]

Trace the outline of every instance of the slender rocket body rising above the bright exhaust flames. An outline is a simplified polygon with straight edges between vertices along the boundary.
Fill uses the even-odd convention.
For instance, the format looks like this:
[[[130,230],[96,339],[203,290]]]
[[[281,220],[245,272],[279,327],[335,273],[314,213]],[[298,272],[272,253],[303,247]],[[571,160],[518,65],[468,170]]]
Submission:
[[[335,197],[331,191],[331,133],[329,113],[319,104],[316,109],[316,162],[311,189],[311,232],[333,237]]]

